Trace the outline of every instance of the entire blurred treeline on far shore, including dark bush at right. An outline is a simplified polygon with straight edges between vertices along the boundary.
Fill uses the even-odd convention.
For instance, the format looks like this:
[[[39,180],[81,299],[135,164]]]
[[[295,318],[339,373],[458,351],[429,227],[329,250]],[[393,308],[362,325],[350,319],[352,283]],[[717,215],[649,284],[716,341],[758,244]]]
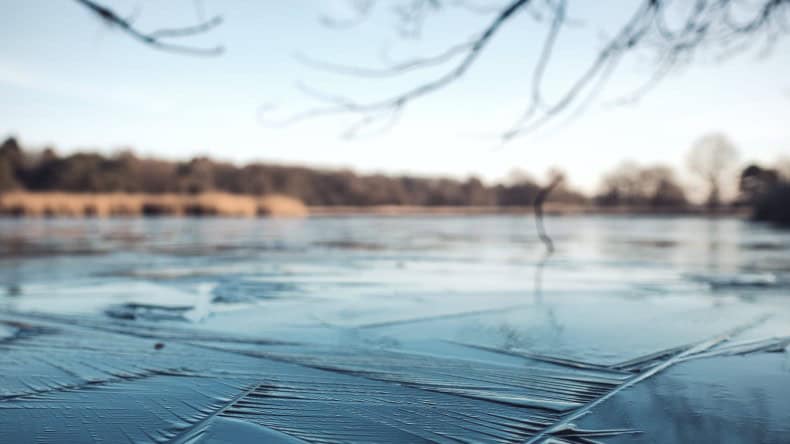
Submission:
[[[746,206],[757,219],[790,225],[790,178],[778,169],[749,165],[738,181],[735,201],[719,200],[713,183],[707,207]],[[197,195],[225,192],[249,196],[282,194],[311,206],[500,206],[532,205],[540,183],[514,174],[505,183],[415,176],[362,175],[345,169],[315,169],[266,163],[237,166],[206,157],[175,162],[142,158],[130,151],[111,156],[80,152],[66,156],[53,149],[23,149],[15,138],[0,145],[0,193],[13,190],[75,193]],[[666,166],[623,163],[601,180],[594,196],[563,182],[549,201],[599,207],[685,211],[686,191]]]

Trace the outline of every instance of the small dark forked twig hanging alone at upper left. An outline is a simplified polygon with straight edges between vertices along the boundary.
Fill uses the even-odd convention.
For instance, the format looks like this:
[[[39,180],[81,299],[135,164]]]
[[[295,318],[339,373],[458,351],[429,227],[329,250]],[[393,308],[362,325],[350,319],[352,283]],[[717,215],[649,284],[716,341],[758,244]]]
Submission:
[[[193,55],[213,56],[222,53],[223,49],[220,46],[213,48],[201,48],[187,45],[174,44],[168,39],[193,37],[199,34],[206,33],[216,28],[222,23],[222,17],[215,16],[202,23],[193,26],[185,26],[180,28],[159,29],[151,32],[143,32],[137,29],[130,20],[124,19],[112,9],[100,5],[92,0],[75,0],[80,5],[88,8],[92,13],[96,14],[102,21],[110,26],[116,27],[132,38],[156,49],[172,52],[187,53]]]

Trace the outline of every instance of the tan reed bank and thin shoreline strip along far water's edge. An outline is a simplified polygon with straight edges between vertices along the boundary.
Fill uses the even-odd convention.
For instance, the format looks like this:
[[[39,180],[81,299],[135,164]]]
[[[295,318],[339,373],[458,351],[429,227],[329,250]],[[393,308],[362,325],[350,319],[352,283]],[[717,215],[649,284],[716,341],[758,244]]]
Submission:
[[[607,207],[593,204],[547,202],[547,216],[738,216],[748,208],[727,207],[711,213],[702,206]],[[0,193],[0,217],[107,218],[107,217],[354,217],[354,216],[490,216],[534,214],[533,206],[306,206],[283,195],[251,196],[230,193],[141,194],[13,191]]]

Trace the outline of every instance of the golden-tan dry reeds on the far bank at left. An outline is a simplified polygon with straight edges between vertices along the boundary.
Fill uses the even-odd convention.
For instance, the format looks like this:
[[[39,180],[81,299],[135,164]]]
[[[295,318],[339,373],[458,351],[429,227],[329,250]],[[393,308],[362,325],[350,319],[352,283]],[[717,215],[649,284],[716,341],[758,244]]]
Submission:
[[[307,208],[298,199],[281,195],[254,197],[227,193],[182,194],[0,194],[0,214],[14,216],[230,216],[302,217]]]

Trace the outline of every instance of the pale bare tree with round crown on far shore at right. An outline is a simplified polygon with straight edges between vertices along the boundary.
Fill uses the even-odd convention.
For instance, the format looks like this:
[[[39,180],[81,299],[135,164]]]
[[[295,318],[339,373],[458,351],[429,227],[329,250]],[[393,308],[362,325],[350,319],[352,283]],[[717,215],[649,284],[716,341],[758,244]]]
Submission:
[[[721,204],[722,176],[735,163],[738,151],[735,145],[720,133],[703,136],[691,148],[688,165],[708,184],[707,205],[716,209]]]

